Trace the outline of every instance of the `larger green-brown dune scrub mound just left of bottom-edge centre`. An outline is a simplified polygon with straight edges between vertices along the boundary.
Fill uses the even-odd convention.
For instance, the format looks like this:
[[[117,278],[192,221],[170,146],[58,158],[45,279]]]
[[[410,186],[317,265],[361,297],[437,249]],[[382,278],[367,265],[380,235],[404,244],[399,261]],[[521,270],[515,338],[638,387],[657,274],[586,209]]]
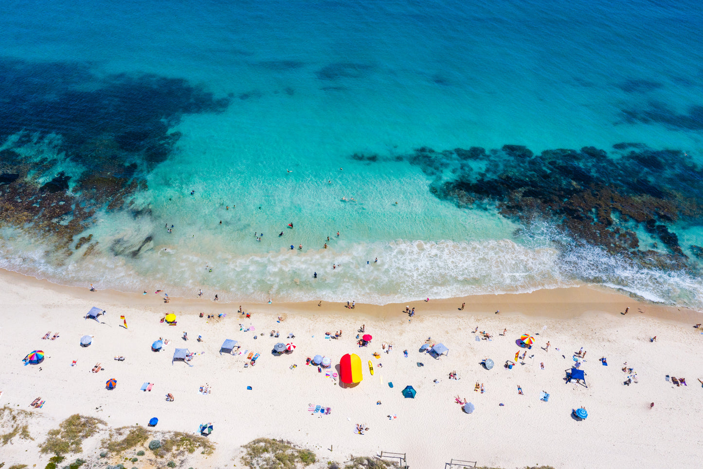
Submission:
[[[242,461],[250,469],[295,469],[316,461],[313,451],[275,439],[257,438],[243,447],[246,453]]]

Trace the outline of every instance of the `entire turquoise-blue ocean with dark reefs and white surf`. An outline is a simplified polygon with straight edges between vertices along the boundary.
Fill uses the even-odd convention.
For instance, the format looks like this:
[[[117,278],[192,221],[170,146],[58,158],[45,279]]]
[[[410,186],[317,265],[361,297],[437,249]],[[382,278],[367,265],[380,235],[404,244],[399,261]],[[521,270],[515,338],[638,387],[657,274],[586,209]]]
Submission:
[[[0,267],[224,301],[601,284],[703,308],[702,20],[8,0]]]

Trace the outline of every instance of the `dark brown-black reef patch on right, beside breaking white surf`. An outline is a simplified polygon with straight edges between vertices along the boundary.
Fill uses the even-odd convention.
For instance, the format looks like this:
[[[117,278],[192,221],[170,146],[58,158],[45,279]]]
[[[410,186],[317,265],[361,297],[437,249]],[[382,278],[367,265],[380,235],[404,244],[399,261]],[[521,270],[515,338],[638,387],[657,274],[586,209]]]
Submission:
[[[377,155],[350,158],[373,163]],[[433,178],[430,192],[462,207],[494,206],[506,218],[548,219],[580,243],[643,265],[693,268],[673,226],[703,225],[703,168],[683,151],[622,143],[534,154],[520,145],[436,151],[428,147],[389,157],[417,165]],[[647,246],[647,232],[666,251]],[[699,256],[701,249],[690,246]]]

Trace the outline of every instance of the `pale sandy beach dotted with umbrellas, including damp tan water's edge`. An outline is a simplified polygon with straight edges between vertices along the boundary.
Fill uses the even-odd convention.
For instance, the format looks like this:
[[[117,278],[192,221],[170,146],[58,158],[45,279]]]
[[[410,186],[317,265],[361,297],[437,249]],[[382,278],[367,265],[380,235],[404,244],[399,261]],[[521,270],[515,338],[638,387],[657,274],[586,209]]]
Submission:
[[[237,313],[239,304],[176,298],[165,304],[154,290],[146,295],[89,292],[1,273],[1,404],[29,410],[36,397],[46,402],[32,409],[35,440],[15,438],[0,446],[0,462],[44,467],[49,456],[40,456],[37,445],[63,419],[80,413],[99,417],[110,427],[146,426],[157,417],[156,430],[183,432],[197,432],[199,424],[212,422],[209,438],[217,450],[207,458],[193,456],[186,464],[195,468],[241,467],[240,446],[257,437],[288,439],[337,461],[349,454],[406,453],[415,469],[444,468],[451,458],[502,468],[700,465],[703,335],[692,326],[703,320],[696,311],[579,287],[414,302],[409,304],[416,311],[412,320],[403,313],[405,305],[357,303],[347,310],[342,304],[275,301],[243,304],[252,313],[245,318]],[[462,302],[466,308],[458,311]],[[91,306],[107,314],[99,322],[85,320]],[[626,307],[629,313],[622,315]],[[501,313],[494,313],[498,309]],[[160,323],[172,312],[177,325]],[[198,317],[200,312],[226,317],[208,320]],[[127,318],[128,329],[120,315]],[[240,324],[254,330],[240,330]],[[355,337],[362,324],[373,342],[360,348]],[[489,332],[491,340],[477,340],[475,327]],[[505,336],[500,335],[504,328]],[[271,330],[279,330],[280,338],[269,337]],[[343,331],[340,339],[325,339],[325,332],[337,330]],[[49,331],[59,337],[41,339]],[[183,331],[188,342],[181,339]],[[295,334],[297,349],[273,356],[273,344],[290,342],[285,339],[289,332]],[[516,344],[525,332],[536,343],[527,350],[524,364],[504,368],[515,352],[526,350]],[[93,342],[83,348],[79,339],[85,334]],[[198,335],[204,342],[196,342]],[[650,342],[654,336],[657,341]],[[160,337],[169,344],[155,353],[150,344]],[[430,344],[448,346],[449,355],[434,359],[421,353],[428,337]],[[237,340],[240,351],[260,353],[257,364],[244,368],[244,355],[219,354],[224,339]],[[389,354],[382,350],[384,342],[393,345]],[[543,349],[546,342],[549,351]],[[187,364],[172,364],[176,347],[197,355]],[[587,352],[581,370],[588,387],[565,383],[565,370],[581,347]],[[46,353],[44,362],[25,366],[22,358],[35,349]],[[373,352],[380,358],[373,358]],[[347,353],[359,354],[363,363],[363,382],[353,388],[344,389],[338,380],[305,365],[307,357],[321,354],[332,359],[334,373]],[[115,356],[125,360],[115,361]],[[608,366],[598,360],[602,356]],[[495,368],[484,369],[484,358],[493,359]],[[77,364],[71,366],[74,360]],[[373,376],[366,366],[369,360]],[[623,384],[625,362],[638,381],[629,386]],[[91,373],[96,363],[104,370]],[[297,368],[291,369],[294,364]],[[460,380],[449,380],[452,370]],[[685,377],[688,385],[677,387],[666,375]],[[108,378],[117,380],[111,391],[105,389]],[[143,382],[154,383],[153,390],[141,391]],[[475,392],[477,382],[484,385],[484,393]],[[211,392],[202,395],[198,390],[205,384]],[[417,390],[415,399],[401,395],[408,384]],[[540,400],[543,391],[550,394],[547,402]],[[173,402],[165,401],[169,392]],[[463,413],[455,396],[475,404],[475,412]],[[309,404],[330,407],[331,413],[313,415]],[[572,409],[579,406],[588,410],[586,420],[572,418]],[[356,423],[364,423],[368,432],[356,434]],[[84,458],[95,458],[100,450],[98,437],[84,442]]]

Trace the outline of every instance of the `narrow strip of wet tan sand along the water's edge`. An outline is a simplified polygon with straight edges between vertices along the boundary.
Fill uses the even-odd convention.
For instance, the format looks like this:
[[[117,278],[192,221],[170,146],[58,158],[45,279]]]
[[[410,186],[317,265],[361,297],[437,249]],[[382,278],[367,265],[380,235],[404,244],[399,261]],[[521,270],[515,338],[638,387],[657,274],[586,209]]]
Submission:
[[[213,301],[204,298],[183,298],[169,296],[170,302],[165,303],[161,294],[147,292],[140,293],[120,292],[113,289],[96,290],[91,292],[85,287],[61,285],[50,280],[38,279],[30,275],[5,270],[0,268],[0,278],[11,280],[15,284],[42,287],[52,292],[70,294],[84,301],[100,301],[102,303],[130,306],[159,308],[163,311],[180,309],[183,313],[200,313],[205,310],[217,310],[218,313],[237,313],[239,306],[245,311],[257,313],[276,313],[284,308],[286,311],[302,315],[316,315],[318,313],[339,313],[344,315],[358,315],[370,318],[389,319],[407,316],[404,305],[416,308],[423,315],[437,314],[489,314],[500,310],[500,315],[522,315],[531,318],[572,319],[584,314],[583,305],[591,305],[593,311],[607,312],[612,315],[621,315],[625,308],[630,308],[630,314],[643,314],[650,318],[665,320],[672,323],[688,324],[695,320],[703,311],[697,311],[687,306],[672,306],[654,303],[633,294],[618,292],[617,290],[600,285],[583,284],[577,287],[559,287],[553,289],[539,289],[529,293],[503,293],[479,294],[459,296],[447,299],[430,299],[430,301],[403,301],[384,305],[356,303],[352,311],[343,303],[321,301],[299,302],[273,302],[271,304],[252,301]],[[463,311],[459,306],[465,303]],[[638,313],[638,311],[640,311]]]

